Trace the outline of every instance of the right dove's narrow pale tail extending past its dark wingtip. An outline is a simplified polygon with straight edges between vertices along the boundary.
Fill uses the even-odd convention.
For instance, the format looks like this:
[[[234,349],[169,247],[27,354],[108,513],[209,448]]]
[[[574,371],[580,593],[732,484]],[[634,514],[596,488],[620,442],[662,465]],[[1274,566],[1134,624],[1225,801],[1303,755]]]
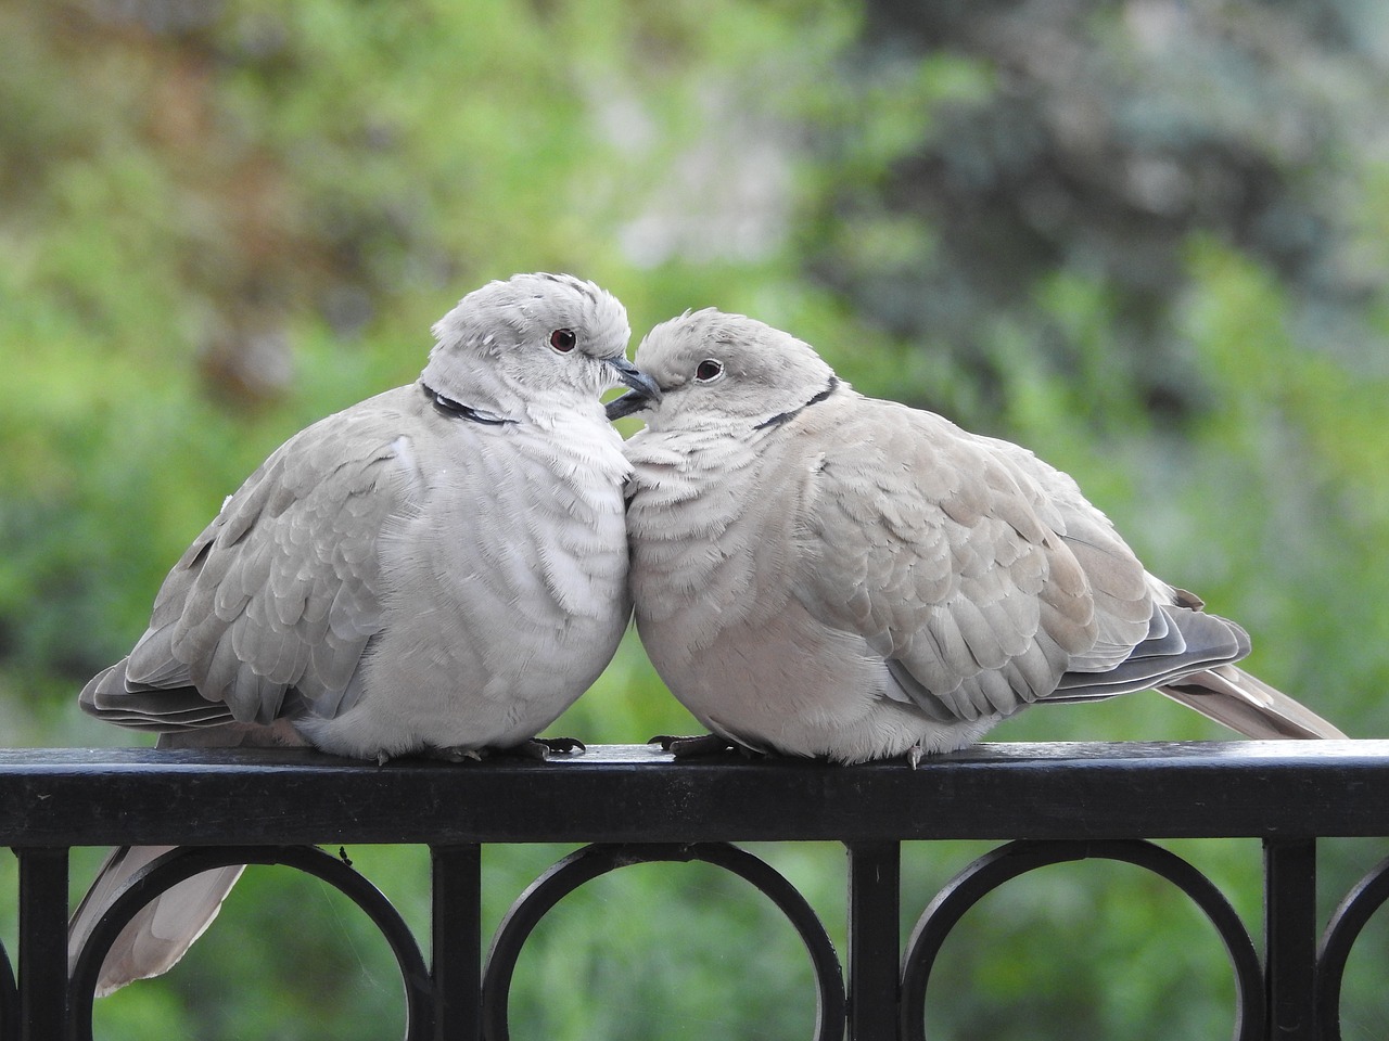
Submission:
[[[1306,705],[1235,665],[1195,672],[1157,690],[1245,737],[1346,737]]]

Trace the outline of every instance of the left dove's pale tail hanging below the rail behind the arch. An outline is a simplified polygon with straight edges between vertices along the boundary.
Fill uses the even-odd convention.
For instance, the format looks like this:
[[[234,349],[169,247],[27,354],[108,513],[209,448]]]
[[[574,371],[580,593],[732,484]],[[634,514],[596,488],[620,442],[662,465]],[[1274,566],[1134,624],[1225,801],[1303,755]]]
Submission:
[[[92,929],[125,891],[131,877],[169,849],[174,847],[126,845],[111,852],[68,923],[68,974],[76,967]],[[96,997],[104,998],[128,983],[172,969],[213,924],[243,870],[244,865],[233,865],[194,874],[140,908],[111,944],[97,979]]]

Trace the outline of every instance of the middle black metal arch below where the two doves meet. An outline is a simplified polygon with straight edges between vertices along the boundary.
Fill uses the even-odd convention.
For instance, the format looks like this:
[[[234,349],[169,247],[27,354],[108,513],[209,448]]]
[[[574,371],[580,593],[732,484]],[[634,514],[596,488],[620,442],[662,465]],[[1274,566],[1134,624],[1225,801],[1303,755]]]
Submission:
[[[765,861],[726,843],[589,845],[556,863],[526,888],[497,929],[482,981],[483,1037],[507,1041],[507,1004],[517,959],[531,931],[565,895],[600,874],[633,863],[703,861],[733,872],[771,898],[796,929],[815,974],[815,1038],[845,1034],[845,984],[839,955],[800,891]]]

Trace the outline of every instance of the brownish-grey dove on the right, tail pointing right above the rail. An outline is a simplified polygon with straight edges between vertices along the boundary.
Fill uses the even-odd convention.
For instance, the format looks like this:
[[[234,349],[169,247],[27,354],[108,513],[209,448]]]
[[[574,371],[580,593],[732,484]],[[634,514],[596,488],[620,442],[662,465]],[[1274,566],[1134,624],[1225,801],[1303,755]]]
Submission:
[[[915,765],[1036,702],[1150,687],[1253,737],[1343,737],[1032,452],[864,397],[740,315],[658,325],[636,364],[660,393],[608,405],[646,422],[636,626],[714,744]]]

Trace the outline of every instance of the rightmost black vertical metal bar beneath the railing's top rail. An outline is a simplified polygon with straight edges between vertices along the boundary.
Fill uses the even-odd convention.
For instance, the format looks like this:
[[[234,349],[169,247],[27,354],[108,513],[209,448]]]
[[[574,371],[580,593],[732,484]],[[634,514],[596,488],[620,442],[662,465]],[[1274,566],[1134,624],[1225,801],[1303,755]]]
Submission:
[[[1268,1035],[1317,1041],[1317,841],[1264,840]]]

